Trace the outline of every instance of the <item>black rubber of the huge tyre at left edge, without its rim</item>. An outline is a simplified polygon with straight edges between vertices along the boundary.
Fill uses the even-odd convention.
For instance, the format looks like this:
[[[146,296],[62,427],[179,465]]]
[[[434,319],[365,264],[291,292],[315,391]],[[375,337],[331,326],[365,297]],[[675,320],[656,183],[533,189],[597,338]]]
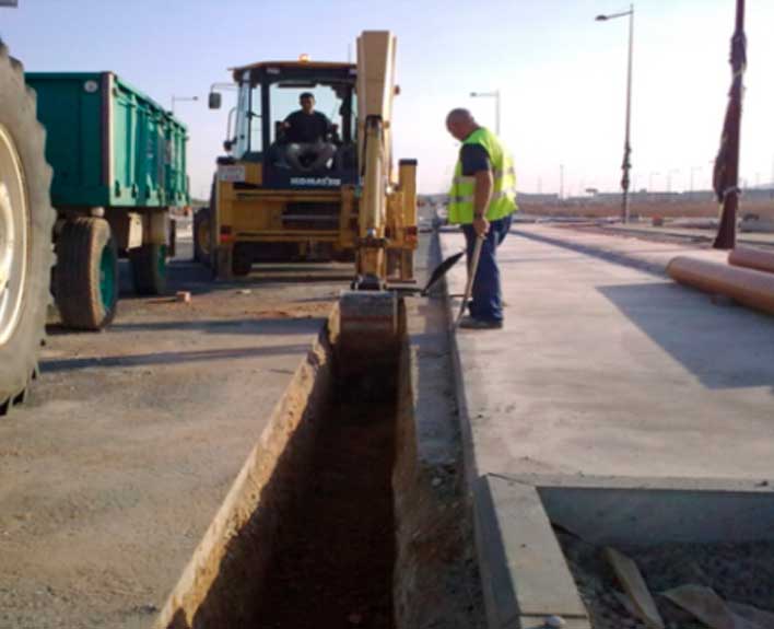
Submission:
[[[24,400],[30,381],[37,373],[51,299],[51,231],[56,212],[48,194],[51,168],[45,158],[46,135],[36,110],[35,93],[24,84],[24,68],[0,42],[0,125],[15,144],[26,183],[28,211],[27,269],[21,314],[8,339],[0,345],[0,415]]]

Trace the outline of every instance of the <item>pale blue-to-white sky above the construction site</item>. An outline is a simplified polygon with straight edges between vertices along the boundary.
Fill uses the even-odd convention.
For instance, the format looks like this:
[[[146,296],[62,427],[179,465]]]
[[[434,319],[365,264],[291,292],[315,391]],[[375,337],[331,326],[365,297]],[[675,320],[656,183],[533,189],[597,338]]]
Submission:
[[[345,61],[362,30],[398,37],[397,158],[419,159],[420,189],[446,189],[456,142],[446,113],[469,107],[502,137],[519,189],[618,189],[623,148],[628,23],[595,22],[619,0],[19,0],[0,34],[28,70],[113,70],[188,125],[191,194],[209,195],[227,106],[207,109],[227,68],[260,60]],[[633,177],[637,188],[707,187],[730,84],[735,0],[635,3]],[[774,179],[774,2],[747,0],[749,69],[741,176]]]

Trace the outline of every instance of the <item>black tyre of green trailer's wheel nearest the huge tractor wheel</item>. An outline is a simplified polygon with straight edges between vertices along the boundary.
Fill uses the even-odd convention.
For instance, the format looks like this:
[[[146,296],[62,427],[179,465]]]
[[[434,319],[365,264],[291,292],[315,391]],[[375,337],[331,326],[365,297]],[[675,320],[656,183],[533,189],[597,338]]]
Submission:
[[[113,249],[113,293],[103,303],[99,267],[105,247]],[[118,252],[105,219],[78,218],[67,221],[57,241],[55,295],[64,326],[98,330],[109,325],[118,306]]]

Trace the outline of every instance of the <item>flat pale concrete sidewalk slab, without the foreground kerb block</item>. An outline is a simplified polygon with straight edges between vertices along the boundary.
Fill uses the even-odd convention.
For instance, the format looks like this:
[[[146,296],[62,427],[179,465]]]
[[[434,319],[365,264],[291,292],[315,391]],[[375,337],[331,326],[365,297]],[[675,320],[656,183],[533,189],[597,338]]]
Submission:
[[[770,476],[774,319],[568,247],[695,249],[531,230],[500,251],[504,329],[457,334],[477,474]],[[444,255],[461,243],[444,234]]]

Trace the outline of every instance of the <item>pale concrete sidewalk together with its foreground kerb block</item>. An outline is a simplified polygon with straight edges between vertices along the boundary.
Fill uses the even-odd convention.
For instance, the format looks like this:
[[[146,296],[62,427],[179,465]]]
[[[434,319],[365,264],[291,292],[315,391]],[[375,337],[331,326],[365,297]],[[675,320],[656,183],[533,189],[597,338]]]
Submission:
[[[462,246],[456,233],[441,240],[444,257]],[[459,330],[455,339],[490,627],[538,627],[552,614],[568,629],[590,627],[550,526],[556,513],[548,513],[541,478],[600,489],[623,480],[636,489],[612,497],[613,513],[632,522],[642,516],[633,505],[646,487],[666,488],[654,499],[682,487],[723,497],[734,484],[748,492],[744,504],[749,492],[767,494],[774,318],[668,280],[667,263],[685,254],[725,258],[547,226],[518,226],[501,247],[504,328]],[[448,292],[461,293],[465,279],[460,265]],[[452,300],[452,313],[458,303]],[[718,485],[719,477],[727,480]],[[562,524],[571,531],[579,506],[599,516],[591,494],[570,499],[572,517]],[[694,513],[690,501],[676,500],[684,522],[703,522],[718,508],[711,499]],[[658,520],[662,506],[650,513],[667,526]]]

